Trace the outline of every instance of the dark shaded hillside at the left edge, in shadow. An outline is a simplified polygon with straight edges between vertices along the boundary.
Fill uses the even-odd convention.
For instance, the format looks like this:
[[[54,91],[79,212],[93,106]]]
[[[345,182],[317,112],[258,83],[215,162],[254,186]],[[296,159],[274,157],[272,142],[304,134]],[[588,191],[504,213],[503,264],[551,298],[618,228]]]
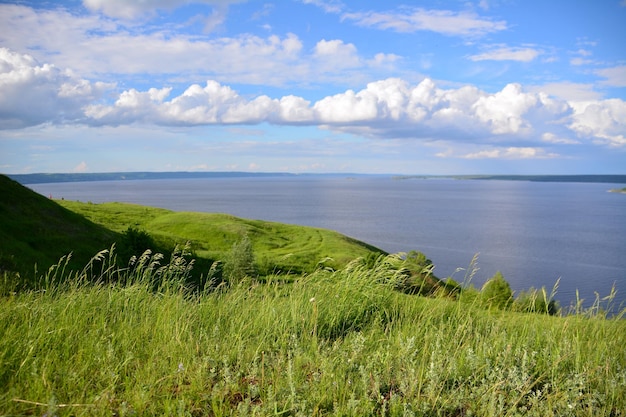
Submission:
[[[0,175],[0,272],[25,279],[73,253],[71,267],[82,268],[118,234]]]

